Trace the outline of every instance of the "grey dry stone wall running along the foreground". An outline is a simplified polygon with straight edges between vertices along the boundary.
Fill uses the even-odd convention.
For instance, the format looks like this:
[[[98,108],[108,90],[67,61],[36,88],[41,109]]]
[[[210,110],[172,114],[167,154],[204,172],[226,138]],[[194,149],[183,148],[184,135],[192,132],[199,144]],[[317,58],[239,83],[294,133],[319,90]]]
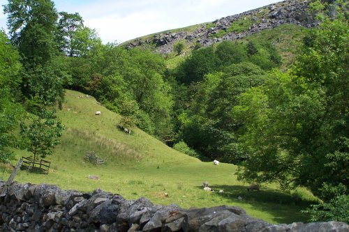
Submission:
[[[4,183],[0,182],[0,188]],[[343,222],[269,224],[235,206],[184,210],[102,190],[13,183],[0,196],[0,231],[349,231]]]

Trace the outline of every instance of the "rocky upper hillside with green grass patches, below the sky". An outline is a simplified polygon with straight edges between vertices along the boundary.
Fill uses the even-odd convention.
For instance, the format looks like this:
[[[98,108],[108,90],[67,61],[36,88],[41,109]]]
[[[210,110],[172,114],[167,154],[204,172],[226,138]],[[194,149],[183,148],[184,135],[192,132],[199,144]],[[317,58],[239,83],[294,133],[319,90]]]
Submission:
[[[177,42],[183,42],[186,51],[195,47],[207,47],[223,40],[239,40],[255,33],[279,26],[288,25],[310,28],[317,22],[308,12],[310,1],[287,0],[262,8],[249,10],[238,15],[222,17],[213,22],[206,22],[181,29],[171,29],[124,42],[123,46],[143,47],[161,54],[171,54]],[[286,26],[287,27],[287,26]],[[186,52],[184,52],[184,55]]]

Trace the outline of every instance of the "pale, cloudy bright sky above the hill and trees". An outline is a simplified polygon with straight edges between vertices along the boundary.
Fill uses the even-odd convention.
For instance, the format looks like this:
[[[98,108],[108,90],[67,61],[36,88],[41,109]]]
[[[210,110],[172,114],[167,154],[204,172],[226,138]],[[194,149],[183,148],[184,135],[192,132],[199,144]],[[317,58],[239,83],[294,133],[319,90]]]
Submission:
[[[57,11],[79,13],[96,29],[103,43],[124,42],[151,33],[177,29],[243,13],[280,0],[54,0]],[[0,29],[6,15],[0,0]]]

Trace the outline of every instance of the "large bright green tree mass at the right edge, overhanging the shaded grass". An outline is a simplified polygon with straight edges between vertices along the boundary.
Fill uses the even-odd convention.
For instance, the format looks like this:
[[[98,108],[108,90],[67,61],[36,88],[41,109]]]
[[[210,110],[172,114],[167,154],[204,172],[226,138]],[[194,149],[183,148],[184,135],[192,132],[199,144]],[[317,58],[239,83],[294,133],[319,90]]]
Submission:
[[[244,123],[248,160],[239,178],[308,187],[332,205],[348,199],[349,35],[342,16],[306,36],[290,73],[273,72],[240,98],[234,112]]]

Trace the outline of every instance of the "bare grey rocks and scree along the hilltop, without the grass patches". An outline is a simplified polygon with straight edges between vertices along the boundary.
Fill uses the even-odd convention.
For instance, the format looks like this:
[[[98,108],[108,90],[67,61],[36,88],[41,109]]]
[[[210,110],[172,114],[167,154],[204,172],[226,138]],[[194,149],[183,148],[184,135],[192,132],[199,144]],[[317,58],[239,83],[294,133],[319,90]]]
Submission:
[[[126,46],[131,48],[144,44],[155,44],[157,47],[156,52],[169,54],[173,51],[174,43],[179,40],[186,41],[188,44],[198,43],[203,47],[207,47],[214,44],[214,42],[244,38],[258,31],[272,29],[282,24],[297,24],[304,27],[316,26],[317,22],[307,12],[309,2],[310,0],[286,0],[238,15],[222,17],[220,20],[211,22],[209,28],[207,28],[207,24],[201,24],[195,31],[158,33],[154,35],[152,40],[149,38],[147,40],[137,38]],[[234,31],[223,33],[224,35],[221,37],[214,36],[220,31],[229,31],[228,29],[233,23],[246,19],[251,20],[251,26],[248,29],[239,33]]]

